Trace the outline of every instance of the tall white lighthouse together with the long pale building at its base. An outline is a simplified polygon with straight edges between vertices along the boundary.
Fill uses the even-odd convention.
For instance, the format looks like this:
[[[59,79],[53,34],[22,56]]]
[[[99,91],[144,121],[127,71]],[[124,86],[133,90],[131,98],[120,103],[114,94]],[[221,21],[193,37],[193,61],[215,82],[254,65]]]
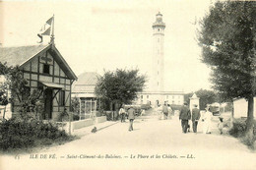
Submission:
[[[153,23],[153,58],[150,67],[149,86],[137,95],[137,104],[151,104],[156,107],[164,102],[168,104],[182,105],[184,102],[183,91],[167,91],[164,89],[164,28],[162,15],[156,15],[156,22]]]

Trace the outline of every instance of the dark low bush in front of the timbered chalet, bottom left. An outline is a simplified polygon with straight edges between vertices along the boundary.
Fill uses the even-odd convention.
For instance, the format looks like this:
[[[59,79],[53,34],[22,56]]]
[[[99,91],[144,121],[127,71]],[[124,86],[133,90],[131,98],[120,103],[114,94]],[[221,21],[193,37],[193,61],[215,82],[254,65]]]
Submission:
[[[29,148],[37,146],[38,143],[45,145],[69,139],[65,131],[58,130],[58,127],[50,122],[12,118],[0,123],[1,150]]]

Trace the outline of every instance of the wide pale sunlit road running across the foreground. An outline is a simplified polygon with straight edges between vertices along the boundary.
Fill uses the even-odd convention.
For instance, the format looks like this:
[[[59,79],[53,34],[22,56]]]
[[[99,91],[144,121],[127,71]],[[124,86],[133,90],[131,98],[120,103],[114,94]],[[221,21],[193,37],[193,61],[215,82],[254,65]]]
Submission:
[[[116,123],[96,134],[32,154],[3,156],[0,169],[255,169],[256,153],[228,135],[182,134],[178,118],[157,116]],[[215,125],[214,125],[215,126]],[[32,158],[37,156],[47,158]],[[54,156],[53,156],[54,155]],[[10,162],[10,163],[9,163]]]

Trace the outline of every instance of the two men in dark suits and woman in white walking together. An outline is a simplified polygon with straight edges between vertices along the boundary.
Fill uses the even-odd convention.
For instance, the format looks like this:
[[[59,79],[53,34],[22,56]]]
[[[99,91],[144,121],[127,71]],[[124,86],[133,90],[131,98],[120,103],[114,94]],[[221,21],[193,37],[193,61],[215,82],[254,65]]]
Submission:
[[[203,133],[204,134],[211,134],[211,120],[213,118],[213,113],[210,110],[210,107],[207,106],[206,112],[204,115],[200,114],[200,110],[197,108],[198,105],[195,104],[194,108],[192,109],[192,115],[190,112],[190,109],[188,108],[188,104],[185,102],[184,105],[180,109],[180,114],[179,114],[179,120],[181,120],[181,128],[182,132],[186,134],[190,130],[190,125],[189,120],[192,121],[192,126],[193,126],[193,132],[197,133],[197,126],[198,122],[201,118],[203,122]]]

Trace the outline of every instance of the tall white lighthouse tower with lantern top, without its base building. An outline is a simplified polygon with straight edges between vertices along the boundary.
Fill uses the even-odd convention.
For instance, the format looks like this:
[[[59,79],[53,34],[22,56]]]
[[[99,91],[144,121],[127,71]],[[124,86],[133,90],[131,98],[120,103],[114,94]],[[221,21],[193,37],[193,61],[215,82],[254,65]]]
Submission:
[[[151,75],[151,89],[154,91],[164,91],[164,28],[165,24],[162,22],[162,15],[156,15],[156,22],[153,23],[153,67]]]

